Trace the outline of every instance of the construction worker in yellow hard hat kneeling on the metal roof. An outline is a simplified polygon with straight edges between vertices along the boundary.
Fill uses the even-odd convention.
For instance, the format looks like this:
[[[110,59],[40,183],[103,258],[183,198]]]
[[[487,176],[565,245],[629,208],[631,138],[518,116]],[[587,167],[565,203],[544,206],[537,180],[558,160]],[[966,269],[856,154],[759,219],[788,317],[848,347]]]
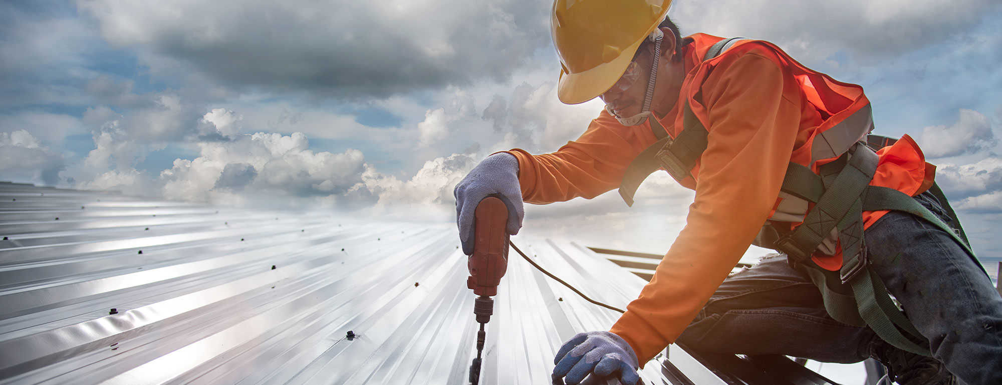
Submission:
[[[455,189],[467,254],[473,209],[488,195],[508,206],[516,234],[523,201],[620,187],[630,203],[657,168],[695,190],[639,298],[609,331],[564,343],[554,376],[633,384],[638,367],[680,342],[823,362],[875,357],[899,384],[1002,384],[1002,298],[919,146],[906,135],[875,153],[862,87],[768,42],[681,38],[665,17],[670,3],[556,0],[557,94],[568,104],[600,97],[605,110],[558,151],[493,154]],[[753,243],[781,254],[728,277]]]

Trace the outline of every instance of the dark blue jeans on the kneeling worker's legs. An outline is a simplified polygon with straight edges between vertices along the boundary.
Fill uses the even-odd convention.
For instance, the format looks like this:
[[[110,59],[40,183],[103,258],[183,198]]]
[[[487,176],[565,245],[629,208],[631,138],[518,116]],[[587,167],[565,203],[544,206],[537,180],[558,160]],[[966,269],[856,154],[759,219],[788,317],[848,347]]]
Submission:
[[[932,194],[916,199],[949,220]],[[897,211],[867,229],[866,242],[871,266],[933,356],[967,384],[1002,384],[1002,297],[980,264],[935,225]],[[716,353],[869,358],[876,334],[832,319],[802,268],[772,255],[728,277],[678,341]]]

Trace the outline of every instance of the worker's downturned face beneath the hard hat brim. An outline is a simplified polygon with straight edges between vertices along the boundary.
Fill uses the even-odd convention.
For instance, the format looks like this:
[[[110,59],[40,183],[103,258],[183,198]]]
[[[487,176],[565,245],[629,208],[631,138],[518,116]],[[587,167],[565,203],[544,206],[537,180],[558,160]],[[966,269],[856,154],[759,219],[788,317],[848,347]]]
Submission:
[[[633,62],[612,88],[599,97],[618,118],[628,118],[643,109],[643,97],[647,93],[653,46],[643,44],[633,56]]]

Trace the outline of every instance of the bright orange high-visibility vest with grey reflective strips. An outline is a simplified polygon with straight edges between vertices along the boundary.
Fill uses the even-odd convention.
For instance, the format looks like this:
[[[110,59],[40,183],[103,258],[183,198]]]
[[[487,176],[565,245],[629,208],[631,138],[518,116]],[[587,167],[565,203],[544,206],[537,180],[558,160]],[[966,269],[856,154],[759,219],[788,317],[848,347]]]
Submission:
[[[739,55],[750,49],[761,48],[761,46],[774,50],[780,60],[780,63],[777,64],[792,70],[800,84],[801,91],[807,96],[808,102],[823,114],[823,123],[813,127],[807,133],[807,143],[793,152],[791,166],[788,169],[788,182],[797,176],[796,171],[804,168],[814,174],[820,173],[822,166],[837,160],[857,143],[866,143],[868,134],[873,131],[870,101],[863,94],[862,87],[842,83],[828,75],[811,70],[769,42],[747,39],[727,39],[724,41],[724,39],[704,34],[695,34],[689,38],[693,40],[696,54],[705,57],[705,60],[696,69],[689,71],[689,75],[682,85],[683,97],[679,99],[678,103],[684,103],[684,113],[679,116],[680,121],[674,124],[675,130],[666,132],[656,120],[650,123],[652,133],[660,140],[642,152],[626,170],[619,192],[627,204],[632,205],[633,193],[643,178],[652,171],[651,164],[667,171],[683,186],[694,188],[699,174],[699,156],[706,148],[707,127],[710,125],[706,110],[698,97],[699,87],[692,85],[702,84],[712,72],[715,64],[723,60],[723,55]],[[756,45],[760,46],[756,47]],[[921,151],[910,137],[906,135],[902,145],[910,146],[914,151],[897,151],[898,153],[912,157],[917,156],[914,160],[924,162]],[[642,162],[647,164],[640,164]],[[929,189],[933,183],[935,166],[927,163],[926,170],[926,177],[921,185],[911,189],[914,191],[903,192],[914,196]],[[903,184],[914,182],[913,175],[898,176],[905,179],[900,181]],[[894,176],[871,180],[871,184],[892,188],[898,187],[896,186],[899,184],[898,182]],[[787,185],[788,183],[785,183],[785,187]],[[815,202],[806,199],[803,194],[798,194],[796,190],[788,190],[787,188],[781,190],[769,221],[756,239],[756,245],[782,250],[782,246],[777,247],[778,241],[782,241],[782,239],[778,239],[780,234],[790,233],[804,222]],[[886,212],[865,214],[865,228],[876,222]],[[842,267],[843,258],[838,240],[838,230],[833,229],[831,234],[827,234],[821,240],[817,249],[804,250],[804,252],[813,253],[812,259],[819,266],[828,270],[839,270]]]

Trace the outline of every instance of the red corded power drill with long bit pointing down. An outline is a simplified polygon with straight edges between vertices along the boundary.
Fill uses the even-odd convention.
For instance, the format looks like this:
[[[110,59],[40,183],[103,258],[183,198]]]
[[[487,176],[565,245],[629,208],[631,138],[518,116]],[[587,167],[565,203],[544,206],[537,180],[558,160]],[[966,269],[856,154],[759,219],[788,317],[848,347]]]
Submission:
[[[498,284],[508,269],[508,208],[500,199],[487,197],[477,204],[474,211],[473,255],[467,259],[470,277],[466,286],[473,289],[477,298],[473,303],[473,314],[480,323],[477,332],[477,358],[470,365],[470,384],[480,383],[480,363],[484,350],[486,333],[484,326],[494,314],[494,299]]]

